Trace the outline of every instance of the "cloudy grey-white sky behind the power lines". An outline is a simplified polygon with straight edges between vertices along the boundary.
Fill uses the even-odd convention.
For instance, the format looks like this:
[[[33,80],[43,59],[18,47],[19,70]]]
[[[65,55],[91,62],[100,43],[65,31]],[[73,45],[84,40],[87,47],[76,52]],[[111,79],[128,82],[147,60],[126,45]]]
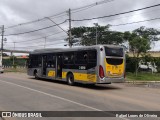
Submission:
[[[95,5],[95,3],[98,3]],[[102,4],[100,4],[102,3]],[[71,9],[71,19],[79,20],[100,16],[107,16],[120,12],[126,12],[155,4],[159,0],[0,0],[0,27],[5,27],[4,49],[34,50],[42,48],[64,48],[67,44],[64,39],[67,34],[55,23],[59,24],[69,18],[68,10]],[[86,7],[93,5],[92,7]],[[91,21],[72,21],[72,27],[94,26],[98,23],[101,26],[111,24],[125,24],[136,21],[153,19],[160,16],[160,6],[133,12],[115,17],[95,19]],[[49,17],[55,23],[48,18]],[[39,21],[38,21],[39,20]],[[33,22],[36,21],[36,22]],[[37,22],[38,21],[38,22]],[[48,26],[48,29],[39,30],[27,34],[18,34],[34,31]],[[111,26],[110,30],[132,31],[140,26],[160,29],[159,20],[142,22],[137,24]],[[69,29],[66,21],[60,24],[65,31]],[[1,32],[0,32],[1,34]],[[13,35],[18,34],[18,35]],[[160,51],[160,41],[152,44],[153,51]]]

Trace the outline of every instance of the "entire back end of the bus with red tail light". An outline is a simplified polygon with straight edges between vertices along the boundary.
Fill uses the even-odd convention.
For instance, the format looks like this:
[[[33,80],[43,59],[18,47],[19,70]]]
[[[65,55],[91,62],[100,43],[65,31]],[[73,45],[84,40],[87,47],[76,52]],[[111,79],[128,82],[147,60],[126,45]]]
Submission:
[[[100,46],[98,83],[124,82],[125,54],[121,46]]]

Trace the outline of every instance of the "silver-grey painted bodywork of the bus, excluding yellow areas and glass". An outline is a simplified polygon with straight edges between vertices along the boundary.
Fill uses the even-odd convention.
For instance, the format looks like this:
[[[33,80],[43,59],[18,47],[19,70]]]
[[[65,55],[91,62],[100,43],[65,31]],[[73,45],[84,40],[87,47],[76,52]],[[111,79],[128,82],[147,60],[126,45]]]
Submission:
[[[104,46],[107,46],[107,47],[115,47],[115,48],[117,48],[117,47],[120,47],[120,48],[123,48],[123,47],[121,47],[121,46],[117,46],[117,45],[95,45],[95,46],[86,46],[86,47],[80,47],[80,48],[72,48],[72,49],[41,49],[41,50],[35,50],[35,51],[33,51],[31,54],[39,54],[39,53],[60,53],[60,52],[68,52],[68,51],[81,51],[81,50],[89,50],[89,49],[96,49],[97,50],[97,66],[96,66],[96,68],[94,69],[95,70],[95,73],[97,74],[97,82],[96,83],[114,83],[114,82],[123,82],[124,81],[124,75],[122,75],[122,76],[119,76],[118,78],[108,78],[108,77],[105,77],[105,78],[100,78],[99,77],[99,66],[101,65],[101,66],[105,66],[104,65],[104,59],[106,58],[106,55],[105,55],[105,49],[104,49]],[[100,50],[100,49],[103,49],[102,51]],[[124,59],[125,59],[125,53],[124,53]],[[56,66],[57,66],[57,58],[56,58]],[[56,67],[57,68],[57,67]],[[105,67],[106,68],[106,67]],[[104,70],[104,74],[105,74],[105,76],[107,76],[106,75],[106,69],[105,68],[103,68],[103,70]],[[29,71],[30,71],[30,69],[28,69]],[[28,75],[33,75],[33,71],[34,71],[35,69],[31,69],[31,72],[28,72],[29,74]],[[39,69],[38,69],[39,70]],[[47,73],[48,73],[48,70],[49,69],[47,69]],[[56,70],[56,69],[55,69]],[[62,72],[64,71],[64,72],[78,72],[78,73],[87,73],[87,72],[89,72],[89,71],[91,71],[91,70],[93,70],[93,68],[92,69],[90,69],[90,70],[70,70],[70,69],[62,69]],[[56,70],[57,71],[57,70]],[[47,73],[46,73],[46,75],[47,75]],[[45,78],[45,76],[42,76],[42,71],[41,70],[39,70],[39,72],[38,72],[38,74],[39,74],[39,76],[40,77],[44,77]],[[56,74],[56,76],[57,76],[57,72],[55,73]],[[46,77],[46,78],[50,78],[50,79],[57,79],[57,78],[51,78],[51,77]],[[63,81],[66,81],[66,79],[62,79]],[[75,80],[75,81],[77,81],[77,82],[82,82],[82,81],[80,81],[80,80]]]

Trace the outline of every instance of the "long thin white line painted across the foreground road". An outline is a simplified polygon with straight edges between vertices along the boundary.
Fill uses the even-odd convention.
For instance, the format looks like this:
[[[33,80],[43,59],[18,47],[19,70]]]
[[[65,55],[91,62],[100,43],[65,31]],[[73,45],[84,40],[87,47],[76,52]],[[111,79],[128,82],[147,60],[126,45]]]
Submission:
[[[89,108],[89,109],[92,109],[92,110],[103,111],[103,110],[100,110],[100,109],[97,109],[97,108],[94,108],[94,107],[91,107],[91,106],[88,106],[88,105],[81,104],[79,102],[75,102],[75,101],[72,101],[72,100],[69,100],[69,99],[66,99],[66,98],[63,98],[63,97],[59,97],[59,96],[52,95],[52,94],[49,94],[49,93],[46,93],[46,92],[42,92],[42,91],[39,91],[39,90],[36,90],[36,89],[32,89],[32,88],[29,88],[29,87],[18,85],[18,84],[12,83],[12,82],[6,82],[6,81],[3,81],[3,80],[0,80],[0,81],[4,82],[4,83],[7,83],[7,84],[14,85],[14,86],[18,86],[18,87],[21,87],[21,88],[25,88],[25,89],[28,89],[28,90],[31,90],[31,91],[34,91],[34,92],[38,92],[38,93],[41,93],[41,94],[44,94],[44,95],[47,95],[47,96],[50,96],[50,97],[53,97],[53,98],[58,98],[58,99],[61,99],[61,100],[64,100],[64,101],[68,101],[70,103],[74,103],[74,104],[77,104],[79,106],[83,106],[83,107],[86,107],[86,108]]]

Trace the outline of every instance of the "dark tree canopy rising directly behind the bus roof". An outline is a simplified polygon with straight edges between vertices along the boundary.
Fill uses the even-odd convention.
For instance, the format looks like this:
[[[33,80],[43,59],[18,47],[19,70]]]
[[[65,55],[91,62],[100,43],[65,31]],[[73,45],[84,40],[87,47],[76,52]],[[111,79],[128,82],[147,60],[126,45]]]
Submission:
[[[72,31],[72,44],[90,46],[96,44],[96,28],[95,27],[75,27]],[[98,44],[120,44],[123,43],[123,33],[110,31],[109,25],[97,26],[97,43]],[[68,41],[68,38],[66,39]]]

